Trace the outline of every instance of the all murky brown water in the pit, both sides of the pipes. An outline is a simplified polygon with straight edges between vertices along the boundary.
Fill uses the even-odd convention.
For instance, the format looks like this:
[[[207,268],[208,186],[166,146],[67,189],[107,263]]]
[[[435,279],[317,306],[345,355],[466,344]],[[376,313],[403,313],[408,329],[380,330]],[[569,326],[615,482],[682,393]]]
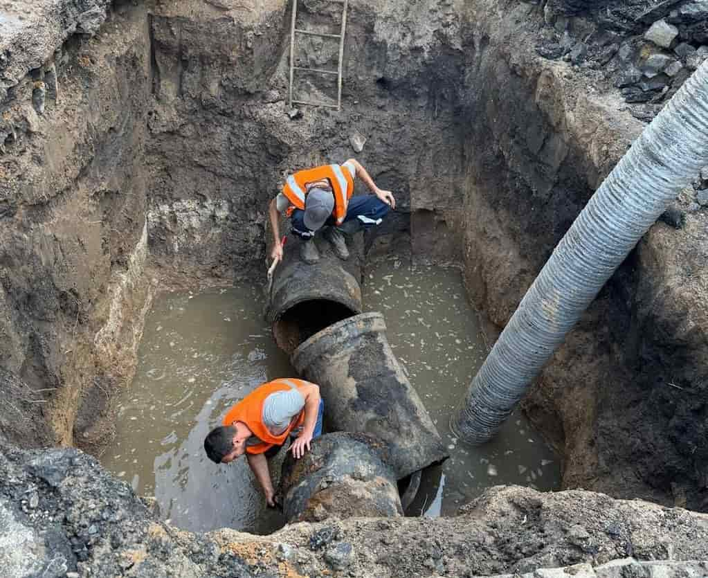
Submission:
[[[295,375],[263,322],[261,291],[242,285],[159,297],[135,380],[119,400],[118,436],[103,464],[139,494],[154,495],[181,528],[267,533],[282,525],[280,514],[265,508],[246,460],[216,465],[202,448],[246,393]],[[386,317],[394,352],[452,455],[441,471],[428,472],[413,511],[453,514],[489,485],[558,486],[556,458],[522,416],[484,448],[462,446],[450,433],[450,414],[486,355],[459,272],[390,261],[367,272],[363,293],[367,309]]]

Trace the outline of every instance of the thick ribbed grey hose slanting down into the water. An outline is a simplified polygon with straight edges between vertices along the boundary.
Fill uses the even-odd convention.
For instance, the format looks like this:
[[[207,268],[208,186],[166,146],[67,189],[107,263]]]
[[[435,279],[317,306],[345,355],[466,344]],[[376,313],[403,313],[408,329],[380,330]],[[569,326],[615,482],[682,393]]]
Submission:
[[[603,181],[527,291],[452,418],[488,441],[666,205],[708,165],[708,62]]]

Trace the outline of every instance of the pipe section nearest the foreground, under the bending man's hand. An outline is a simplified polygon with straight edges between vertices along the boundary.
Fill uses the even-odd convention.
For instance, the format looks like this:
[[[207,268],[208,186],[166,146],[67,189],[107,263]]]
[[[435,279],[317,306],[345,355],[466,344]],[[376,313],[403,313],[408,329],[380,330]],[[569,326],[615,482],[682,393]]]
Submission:
[[[362,433],[327,433],[299,460],[282,465],[279,497],[288,522],[330,516],[403,515],[387,445]]]

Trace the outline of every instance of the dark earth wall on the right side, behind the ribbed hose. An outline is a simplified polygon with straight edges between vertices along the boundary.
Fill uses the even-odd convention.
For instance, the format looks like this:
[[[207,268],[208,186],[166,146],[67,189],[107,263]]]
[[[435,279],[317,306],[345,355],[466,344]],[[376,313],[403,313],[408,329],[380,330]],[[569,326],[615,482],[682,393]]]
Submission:
[[[643,125],[598,91],[600,74],[538,57],[537,8],[491,4],[468,14],[468,67],[485,81],[467,101],[464,274],[503,326]],[[674,208],[682,228],[659,222],[644,237],[525,399],[565,456],[564,487],[707,507],[707,217],[687,205]]]

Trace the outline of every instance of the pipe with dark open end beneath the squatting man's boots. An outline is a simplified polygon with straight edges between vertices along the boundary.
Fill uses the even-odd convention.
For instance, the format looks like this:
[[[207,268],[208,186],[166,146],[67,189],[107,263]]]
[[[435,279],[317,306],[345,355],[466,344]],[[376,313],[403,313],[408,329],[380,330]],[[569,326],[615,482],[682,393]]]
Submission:
[[[324,239],[314,239],[320,259],[308,265],[299,258],[301,241],[288,239],[282,262],[273,273],[265,317],[278,346],[286,353],[317,331],[362,311],[362,234],[348,243],[350,256],[339,259]]]

